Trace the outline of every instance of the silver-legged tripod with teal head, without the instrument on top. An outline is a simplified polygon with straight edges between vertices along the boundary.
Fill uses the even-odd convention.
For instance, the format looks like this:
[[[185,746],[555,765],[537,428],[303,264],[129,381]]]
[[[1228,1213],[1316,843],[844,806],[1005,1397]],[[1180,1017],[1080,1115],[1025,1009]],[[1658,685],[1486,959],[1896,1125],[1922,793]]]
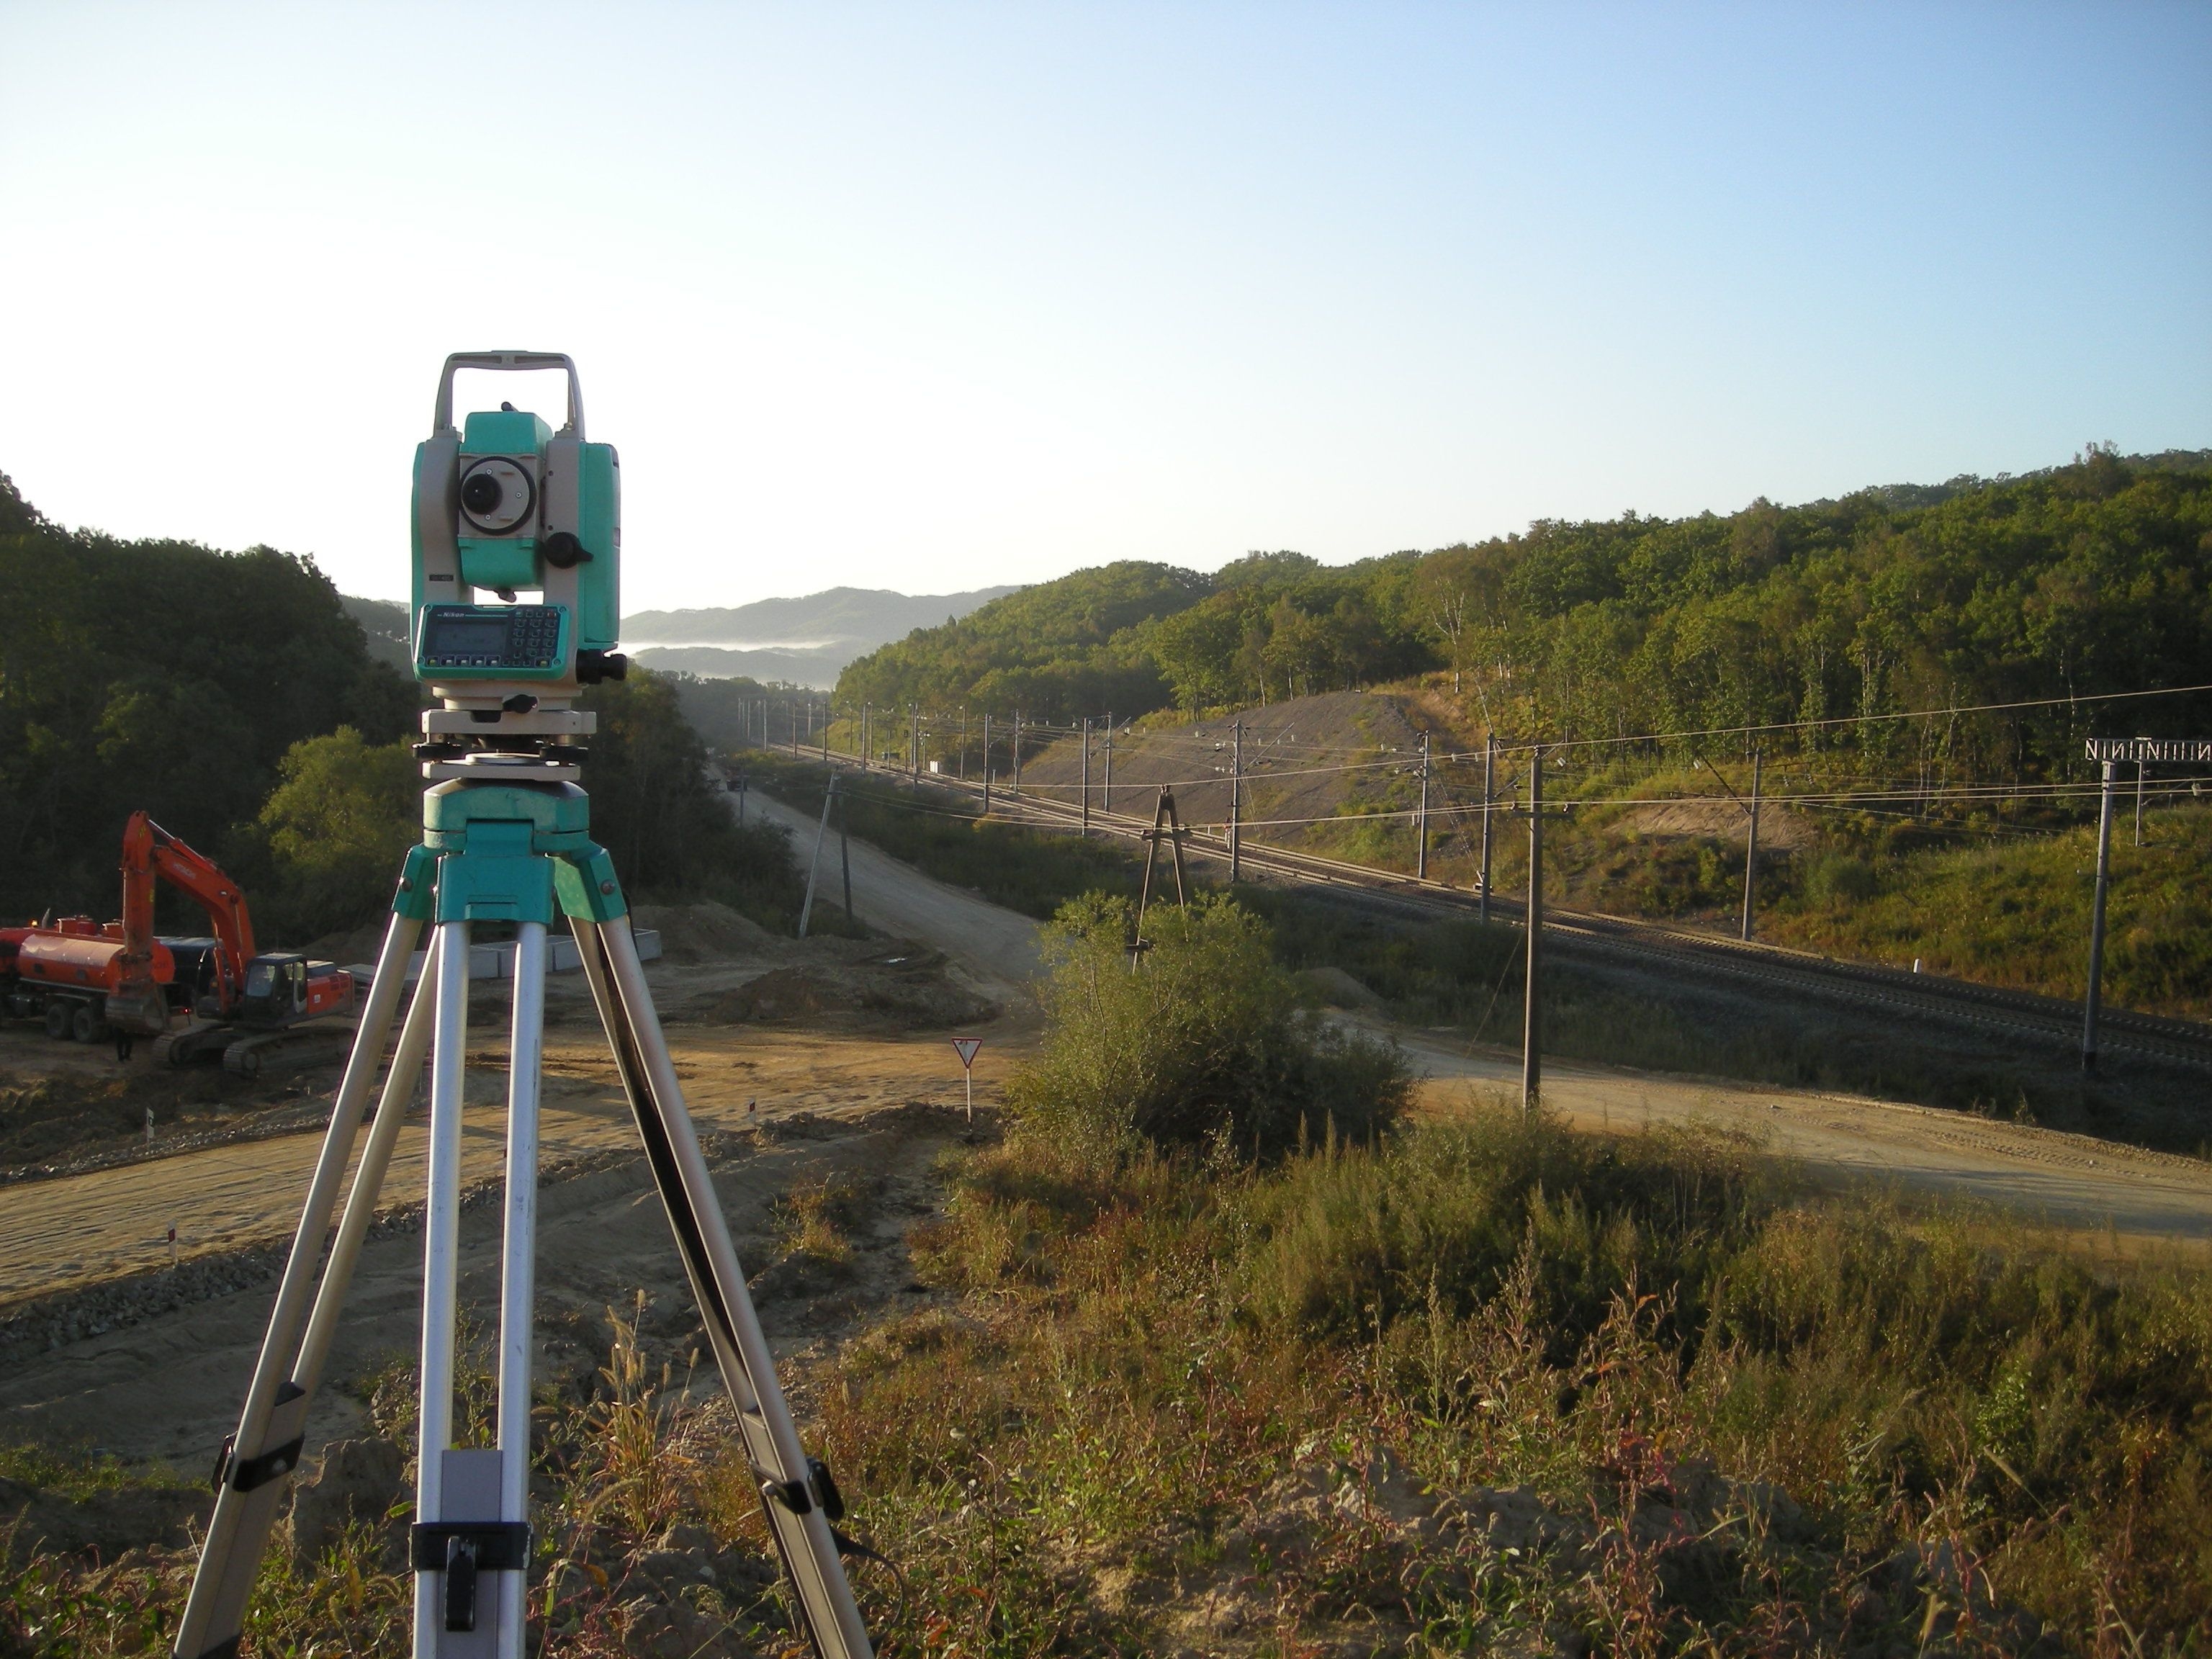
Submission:
[[[332,1102],[307,1203],[239,1429],[215,1469],[215,1515],[177,1659],[234,1655],[276,1509],[305,1444],[307,1409],[330,1356],[347,1281],[376,1212],[414,1079],[429,1057],[429,1179],[422,1225],[422,1398],[418,1416],[416,1659],[520,1659],[531,1559],[531,1296],[538,1223],[538,1073],[544,1037],[546,929],[555,900],[575,933],[599,1022],[644,1141],[677,1252],[737,1407],[770,1535],[799,1619],[821,1659],[869,1659],[867,1630],[838,1562],[843,1500],[830,1469],[799,1444],[768,1338],[745,1292],[699,1135],[684,1108],[659,1015],[646,991],[613,860],[588,836],[591,803],[560,748],[471,754],[431,768],[422,845],[407,854],[352,1057]],[[500,1250],[498,1444],[456,1449],[453,1318],[460,1267],[460,1106],[469,1024],[469,925],[515,925],[507,1073],[507,1208]],[[431,927],[422,978],[383,1075],[361,1166],[336,1234],[330,1217],[405,991],[407,962]],[[327,1261],[323,1241],[330,1237]],[[321,1276],[316,1274],[321,1265]],[[312,1301],[310,1301],[312,1298]],[[489,1575],[489,1577],[487,1577]]]

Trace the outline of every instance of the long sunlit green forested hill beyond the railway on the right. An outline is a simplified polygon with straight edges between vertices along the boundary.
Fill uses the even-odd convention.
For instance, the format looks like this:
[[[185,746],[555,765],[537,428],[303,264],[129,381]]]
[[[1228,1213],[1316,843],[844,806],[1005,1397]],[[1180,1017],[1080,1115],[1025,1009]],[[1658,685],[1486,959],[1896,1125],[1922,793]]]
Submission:
[[[1256,706],[1451,670],[1509,734],[1597,737],[2212,681],[2212,451],[1217,575],[1108,564],[854,661],[838,703],[1040,719]],[[2088,717],[2011,721],[2017,765]],[[2208,730],[2157,699],[2128,730]]]

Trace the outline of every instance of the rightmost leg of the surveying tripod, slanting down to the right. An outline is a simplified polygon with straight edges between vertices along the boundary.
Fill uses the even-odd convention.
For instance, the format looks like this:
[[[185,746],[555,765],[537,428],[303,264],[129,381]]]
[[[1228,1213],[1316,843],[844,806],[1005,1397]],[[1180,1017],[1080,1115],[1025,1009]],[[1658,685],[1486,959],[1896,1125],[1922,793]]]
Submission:
[[[737,1265],[730,1225],[714,1197],[714,1183],[699,1150],[699,1133],[684,1108],[668,1042],[661,1037],[646,973],[630,938],[630,918],[591,925],[575,920],[575,945],[591,978],[591,993],[615,1051],[624,1093],[637,1115],[653,1179],[677,1234],[684,1272],[690,1276],[706,1321],[723,1387],[737,1405],[737,1422],[752,1462],[761,1509],[768,1513],[776,1553],[796,1590],[799,1615],[821,1659],[872,1659],[860,1608],[838,1562],[827,1506],[836,1489],[827,1471],[816,1473],[799,1444],[776,1363],[761,1334],[761,1321]]]

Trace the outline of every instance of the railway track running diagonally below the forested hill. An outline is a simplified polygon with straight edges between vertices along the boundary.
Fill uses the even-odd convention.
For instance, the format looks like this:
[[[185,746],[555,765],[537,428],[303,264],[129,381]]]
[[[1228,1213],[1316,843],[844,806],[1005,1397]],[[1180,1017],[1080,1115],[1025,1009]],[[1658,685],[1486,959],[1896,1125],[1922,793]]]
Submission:
[[[894,768],[863,768],[858,761],[847,761],[847,765],[891,779],[907,776]],[[962,794],[971,801],[980,801],[982,796],[982,787],[975,783],[945,776],[929,781],[940,790]],[[1082,825],[1082,810],[1075,805],[1029,794],[1009,796],[1004,790],[993,790],[991,814],[1042,830],[1075,830]],[[1091,810],[1091,830],[1095,834],[1141,841],[1150,827],[1150,818]],[[1223,836],[1201,830],[1188,830],[1183,847],[1217,863],[1228,863],[1230,856]],[[1343,858],[1294,852],[1290,847],[1270,847],[1250,838],[1243,843],[1241,863],[1248,872],[1312,887],[1329,887],[1358,898],[1367,907],[1389,909],[1407,918],[1467,918],[1482,909],[1482,896],[1464,887],[1420,880],[1391,869],[1371,869],[1369,865],[1354,865]],[[1491,916],[1524,925],[1526,907],[1520,900],[1493,896]],[[1832,1002],[2035,1035],[2064,1051],[2073,1051],[2081,1042],[2081,1004],[2031,991],[2006,991],[2002,987],[1973,984],[1938,973],[1885,969],[1869,962],[1840,962],[1785,945],[1717,938],[1661,922],[1553,905],[1544,907],[1544,936],[1553,949],[1564,949],[1568,956],[1608,958],[1624,967],[1694,973],[1705,980],[1761,984]],[[2190,1020],[2163,1020],[2150,1013],[2106,1009],[2099,1018],[2097,1040],[2101,1053],[2130,1053],[2212,1071],[2212,1026]]]

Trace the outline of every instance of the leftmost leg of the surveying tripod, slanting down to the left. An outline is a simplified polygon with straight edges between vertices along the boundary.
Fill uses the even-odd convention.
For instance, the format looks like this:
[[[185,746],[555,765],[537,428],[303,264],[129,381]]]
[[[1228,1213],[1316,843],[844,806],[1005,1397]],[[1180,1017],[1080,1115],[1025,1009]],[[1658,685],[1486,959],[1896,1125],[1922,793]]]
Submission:
[[[407,984],[407,958],[414,953],[420,931],[422,922],[398,914],[385,929],[385,942],[376,956],[376,978],[369,980],[361,1026],[354,1033],[354,1051],[332,1099],[330,1128],[323,1135],[323,1150],[307,1186],[307,1203],[301,1208],[299,1228],[292,1234],[283,1281],[276,1285],[276,1305],[270,1312],[254,1378],[246,1391],[246,1409],[239,1413],[237,1433],[230,1436],[217,1462],[215,1513],[208,1517],[208,1535],[192,1573],[192,1595],[177,1626],[173,1648],[177,1659],[237,1652],[246,1599],[261,1573],[261,1553],[290,1484],[288,1475],[299,1467],[307,1407],[321,1369],[321,1352],[312,1367],[294,1363],[301,1358],[299,1338],[301,1321],[307,1316],[307,1294],[316,1283],[330,1212],[338,1203],[338,1183],[345,1179],[354,1137],[361,1130],[361,1108],[367,1102],[369,1084],[376,1082],[385,1040],[392,1035],[392,1020]],[[409,1026],[414,1026],[414,1018],[409,1018]],[[389,1104],[389,1086],[385,1104]],[[378,1119],[383,1119],[383,1106],[378,1106]],[[361,1186],[363,1181],[356,1177],[356,1197]],[[374,1208],[374,1192],[369,1206]],[[347,1208],[352,1210],[352,1206]],[[332,1267],[336,1267],[336,1259]],[[330,1281],[332,1274],[325,1274],[325,1292]],[[343,1283],[338,1294],[343,1294]],[[327,1343],[327,1332],[323,1340]]]

